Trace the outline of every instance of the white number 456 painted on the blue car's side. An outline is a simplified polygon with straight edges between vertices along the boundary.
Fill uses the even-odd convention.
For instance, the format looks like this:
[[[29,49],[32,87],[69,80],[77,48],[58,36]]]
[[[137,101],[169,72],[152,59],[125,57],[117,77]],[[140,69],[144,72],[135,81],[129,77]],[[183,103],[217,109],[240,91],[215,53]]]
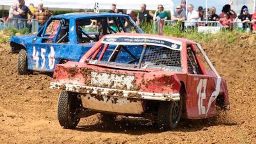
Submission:
[[[46,57],[45,57],[46,49],[41,48],[41,69],[43,69],[46,65]],[[54,68],[55,58],[54,58],[54,48],[50,46],[50,53],[48,55],[48,65],[50,69]],[[36,46],[33,46],[33,60],[36,60],[36,68],[39,67],[39,52],[36,50]]]

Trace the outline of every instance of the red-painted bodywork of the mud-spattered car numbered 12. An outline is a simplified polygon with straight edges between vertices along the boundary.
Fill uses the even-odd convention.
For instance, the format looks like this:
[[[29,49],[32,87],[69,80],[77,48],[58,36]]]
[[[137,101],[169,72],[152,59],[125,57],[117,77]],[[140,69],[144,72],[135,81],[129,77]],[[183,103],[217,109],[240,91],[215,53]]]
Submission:
[[[110,34],[108,36],[147,36],[154,38],[155,35],[149,34],[131,34],[131,33],[118,33],[118,34]],[[67,62],[65,64],[59,64],[55,68],[54,76],[55,82],[63,82],[63,83],[72,83],[77,85],[85,85],[85,81],[90,79],[90,75],[87,78],[83,78],[81,74],[82,68],[90,68],[92,71],[96,71],[98,73],[111,73],[111,74],[121,74],[121,75],[134,75],[135,76],[135,85],[140,85],[140,89],[138,91],[142,92],[157,92],[157,93],[177,93],[180,92],[181,86],[185,86],[184,92],[182,92],[183,98],[183,106],[184,112],[183,117],[190,119],[201,119],[207,117],[213,117],[215,115],[215,102],[211,103],[208,114],[199,114],[198,102],[198,87],[201,91],[199,93],[203,96],[205,90],[205,99],[202,98],[202,107],[205,108],[205,111],[208,106],[209,99],[213,92],[215,91],[217,84],[217,76],[212,70],[205,70],[202,65],[202,62],[198,58],[197,54],[195,55],[196,61],[201,68],[203,74],[188,74],[188,66],[187,66],[187,46],[195,45],[195,42],[188,41],[186,39],[181,38],[173,38],[166,36],[157,36],[158,38],[168,38],[174,39],[182,42],[182,50],[181,50],[181,59],[182,59],[182,71],[164,71],[162,69],[138,69],[138,68],[125,68],[121,66],[108,65],[108,64],[86,64],[86,60],[94,54],[98,50],[99,47],[102,46],[101,40],[95,44],[80,60],[80,62]],[[103,37],[105,38],[105,37]],[[196,50],[197,47],[191,46],[193,50]],[[104,47],[106,50],[106,46]],[[102,52],[105,52],[103,49]],[[100,58],[103,55],[101,54]],[[75,67],[78,69],[78,73],[72,79],[69,79],[70,67]],[[199,85],[199,82],[205,79],[207,84],[205,88]],[[220,82],[220,91],[219,95],[224,96],[223,103],[224,105],[229,104],[228,90],[226,86],[226,80],[221,78]],[[201,108],[201,106],[200,106]]]

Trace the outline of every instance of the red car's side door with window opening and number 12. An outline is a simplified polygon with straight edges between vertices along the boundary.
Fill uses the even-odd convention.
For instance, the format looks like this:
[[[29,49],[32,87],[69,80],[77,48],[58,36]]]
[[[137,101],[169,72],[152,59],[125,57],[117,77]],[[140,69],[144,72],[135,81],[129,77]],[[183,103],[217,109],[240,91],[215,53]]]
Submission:
[[[215,91],[217,77],[207,75],[195,45],[187,46],[187,66],[186,117],[201,119],[213,116],[215,109],[209,101]]]

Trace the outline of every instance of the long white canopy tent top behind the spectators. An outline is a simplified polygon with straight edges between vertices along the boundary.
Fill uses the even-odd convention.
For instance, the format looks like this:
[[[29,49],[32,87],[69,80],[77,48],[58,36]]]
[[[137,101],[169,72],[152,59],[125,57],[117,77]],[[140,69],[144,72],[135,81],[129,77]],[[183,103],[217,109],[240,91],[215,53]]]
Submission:
[[[139,10],[141,4],[146,4],[148,10],[156,10],[159,4],[165,7],[166,11],[174,11],[174,3],[172,0],[25,0],[26,5],[33,3],[35,6],[39,2],[48,8],[60,9],[94,9],[95,2],[98,2],[99,9],[111,9],[111,4],[116,4],[117,9]],[[1,0],[0,5],[11,6],[17,3],[17,0]]]

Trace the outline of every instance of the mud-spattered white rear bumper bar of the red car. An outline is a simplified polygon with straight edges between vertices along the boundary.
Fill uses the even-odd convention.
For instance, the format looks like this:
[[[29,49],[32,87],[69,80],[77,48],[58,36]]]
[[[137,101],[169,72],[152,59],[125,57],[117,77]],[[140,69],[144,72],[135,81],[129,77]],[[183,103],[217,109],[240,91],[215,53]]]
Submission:
[[[58,82],[51,82],[50,83],[50,89],[60,89],[60,87],[63,85],[63,83]],[[88,89],[86,93],[90,94],[98,94],[98,91],[101,91],[100,95],[109,95],[109,91],[123,91],[123,95],[112,95],[116,97],[129,97],[129,98],[139,98],[139,97],[130,97],[129,94],[136,94],[140,95],[141,97],[139,99],[144,100],[156,100],[156,101],[179,101],[180,100],[180,94],[179,93],[172,93],[172,94],[165,94],[165,93],[153,93],[153,92],[139,92],[139,91],[129,91],[129,90],[118,90],[118,89],[108,89],[108,88],[102,88],[102,87],[92,87],[92,86],[82,86],[82,85],[73,85],[73,84],[65,84],[66,91],[72,91],[72,92],[80,92],[80,89]],[[93,89],[94,91],[90,92],[90,89]],[[84,91],[83,91],[84,92]]]

